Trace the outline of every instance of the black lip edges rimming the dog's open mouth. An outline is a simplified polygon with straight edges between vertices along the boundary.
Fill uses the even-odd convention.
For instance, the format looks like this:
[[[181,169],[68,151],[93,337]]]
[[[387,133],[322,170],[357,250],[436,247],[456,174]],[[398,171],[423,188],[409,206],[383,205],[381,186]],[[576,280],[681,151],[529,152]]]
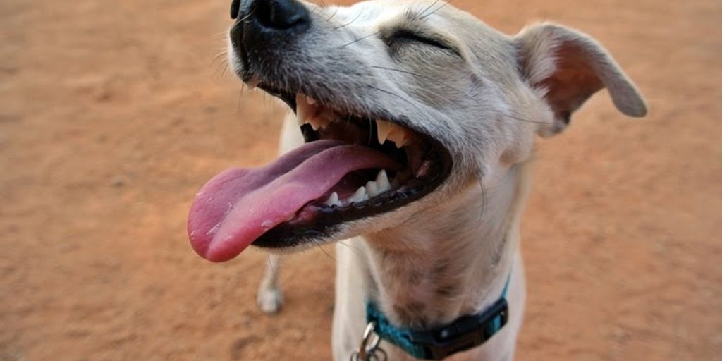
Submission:
[[[243,77],[245,79],[245,77]],[[295,92],[287,92],[272,87],[269,84],[261,82],[258,88],[265,92],[278,97],[287,103],[289,107],[296,112]],[[313,96],[313,94],[307,95]],[[328,106],[324,104],[324,106]],[[329,108],[334,108],[332,105]],[[377,119],[383,118],[391,123],[396,123],[407,127],[408,121],[402,118],[388,116],[388,114],[365,114],[367,118]],[[253,245],[261,248],[293,248],[310,243],[318,243],[318,240],[331,238],[335,233],[341,230],[342,225],[346,222],[352,222],[359,219],[380,216],[382,214],[399,209],[401,206],[410,204],[413,201],[422,199],[424,196],[435,191],[441,186],[451,174],[453,168],[453,159],[451,153],[434,137],[423,132],[412,129],[430,144],[430,150],[427,152],[427,159],[430,159],[431,168],[420,178],[412,178],[404,184],[403,189],[393,191],[386,196],[377,196],[369,199],[361,204],[352,204],[344,207],[314,207],[314,217],[304,222],[284,222],[265,232],[261,237],[253,241]],[[314,132],[309,126],[301,127],[301,131],[306,142],[312,142]]]

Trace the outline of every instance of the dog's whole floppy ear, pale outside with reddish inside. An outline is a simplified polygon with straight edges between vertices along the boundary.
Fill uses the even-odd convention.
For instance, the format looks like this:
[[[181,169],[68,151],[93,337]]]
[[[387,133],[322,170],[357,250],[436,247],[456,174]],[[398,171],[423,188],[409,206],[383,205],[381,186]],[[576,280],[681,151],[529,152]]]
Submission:
[[[542,92],[554,114],[552,125],[539,129],[541,136],[565,129],[572,113],[604,87],[622,113],[633,117],[647,114],[647,105],[632,81],[587,35],[543,23],[526,27],[514,43],[523,77]]]

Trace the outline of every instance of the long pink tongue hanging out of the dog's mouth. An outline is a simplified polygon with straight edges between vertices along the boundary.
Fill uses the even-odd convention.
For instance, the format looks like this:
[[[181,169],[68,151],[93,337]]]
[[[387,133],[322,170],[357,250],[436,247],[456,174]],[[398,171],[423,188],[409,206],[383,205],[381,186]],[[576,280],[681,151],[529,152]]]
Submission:
[[[199,191],[188,214],[193,249],[228,261],[355,170],[396,169],[369,147],[324,140],[304,144],[263,168],[226,170]]]

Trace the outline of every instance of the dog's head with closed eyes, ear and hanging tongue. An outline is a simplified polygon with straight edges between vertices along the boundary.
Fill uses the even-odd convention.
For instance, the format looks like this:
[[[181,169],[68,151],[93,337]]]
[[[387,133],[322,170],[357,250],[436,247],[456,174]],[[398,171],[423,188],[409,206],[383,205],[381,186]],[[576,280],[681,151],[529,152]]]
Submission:
[[[398,225],[527,160],[604,87],[646,113],[604,48],[560,25],[508,37],[438,0],[234,0],[231,15],[233,69],[284,100],[307,143],[199,193],[188,230],[212,261]]]

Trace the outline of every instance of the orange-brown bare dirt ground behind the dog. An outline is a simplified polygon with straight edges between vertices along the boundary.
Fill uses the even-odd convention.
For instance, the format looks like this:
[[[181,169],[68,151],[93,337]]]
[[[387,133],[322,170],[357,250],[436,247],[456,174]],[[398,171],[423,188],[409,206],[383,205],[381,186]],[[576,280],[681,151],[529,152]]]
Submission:
[[[722,2],[454,2],[590,33],[651,105],[600,94],[539,142],[517,359],[719,357]],[[329,359],[329,256],[289,261],[269,317],[264,253],[209,264],[186,238],[199,187],[277,145],[283,110],[214,61],[229,4],[0,1],[1,361]]]

